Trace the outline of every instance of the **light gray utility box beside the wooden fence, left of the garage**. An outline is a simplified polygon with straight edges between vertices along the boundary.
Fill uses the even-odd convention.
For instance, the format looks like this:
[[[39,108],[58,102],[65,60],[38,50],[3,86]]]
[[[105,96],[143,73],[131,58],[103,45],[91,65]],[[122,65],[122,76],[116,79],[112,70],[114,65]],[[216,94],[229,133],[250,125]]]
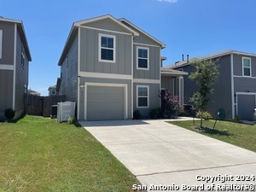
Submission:
[[[75,116],[75,102],[58,102],[57,120],[59,123]]]

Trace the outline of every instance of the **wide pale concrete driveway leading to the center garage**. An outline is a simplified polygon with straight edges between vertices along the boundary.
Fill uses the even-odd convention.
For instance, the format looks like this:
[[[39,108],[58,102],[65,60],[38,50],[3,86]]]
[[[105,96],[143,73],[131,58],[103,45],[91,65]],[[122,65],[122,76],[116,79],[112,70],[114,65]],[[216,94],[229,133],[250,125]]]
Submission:
[[[143,184],[131,186],[131,189],[254,189],[256,153],[247,149],[168,124],[165,120],[79,123]],[[209,179],[211,181],[207,181]]]

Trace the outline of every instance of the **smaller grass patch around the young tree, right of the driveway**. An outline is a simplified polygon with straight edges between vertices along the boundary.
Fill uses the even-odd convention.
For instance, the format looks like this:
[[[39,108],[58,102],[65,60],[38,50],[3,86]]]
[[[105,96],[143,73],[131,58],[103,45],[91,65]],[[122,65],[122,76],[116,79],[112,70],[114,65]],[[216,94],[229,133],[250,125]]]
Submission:
[[[214,122],[215,120],[204,121],[203,126],[212,128]],[[172,121],[169,123],[256,152],[256,125],[218,121],[215,130],[197,131],[192,128],[194,126],[193,121]],[[200,126],[200,120],[195,120],[195,126]]]

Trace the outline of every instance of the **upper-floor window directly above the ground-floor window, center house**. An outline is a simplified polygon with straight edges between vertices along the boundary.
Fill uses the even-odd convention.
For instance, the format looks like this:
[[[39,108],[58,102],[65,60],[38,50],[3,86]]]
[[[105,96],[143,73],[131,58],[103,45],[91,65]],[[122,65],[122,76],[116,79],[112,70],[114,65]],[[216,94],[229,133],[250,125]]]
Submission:
[[[149,49],[137,47],[137,69],[149,69]]]

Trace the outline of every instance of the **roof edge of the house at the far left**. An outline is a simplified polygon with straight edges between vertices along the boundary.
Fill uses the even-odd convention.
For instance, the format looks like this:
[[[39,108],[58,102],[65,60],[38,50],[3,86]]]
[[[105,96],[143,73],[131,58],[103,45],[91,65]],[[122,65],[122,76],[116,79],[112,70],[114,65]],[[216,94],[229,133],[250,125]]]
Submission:
[[[30,50],[29,50],[29,47],[28,47],[28,44],[27,44],[26,33],[25,33],[25,29],[24,29],[22,20],[13,20],[13,19],[7,19],[7,18],[0,17],[0,21],[17,24],[17,30],[20,34],[20,39],[21,39],[22,44],[25,48],[27,59],[28,59],[28,61],[32,61],[32,56],[30,54]]]

